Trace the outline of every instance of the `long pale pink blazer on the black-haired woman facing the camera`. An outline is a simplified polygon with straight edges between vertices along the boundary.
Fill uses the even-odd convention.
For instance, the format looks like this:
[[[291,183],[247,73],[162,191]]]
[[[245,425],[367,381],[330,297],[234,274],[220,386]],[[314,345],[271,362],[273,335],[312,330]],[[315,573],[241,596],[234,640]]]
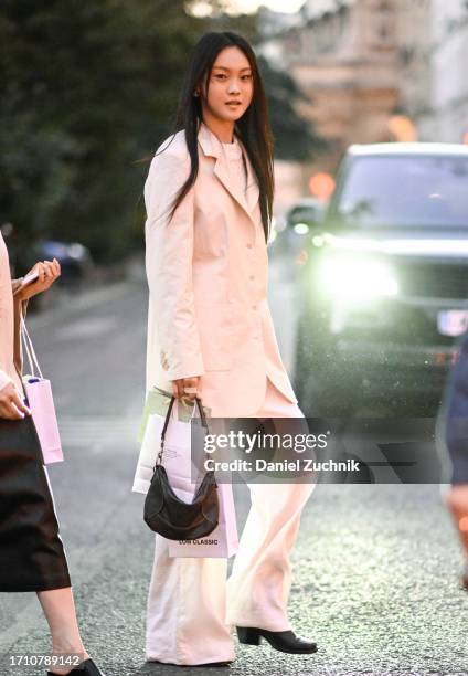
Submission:
[[[158,149],[145,184],[147,388],[171,391],[171,380],[201,376],[201,397],[212,415],[241,416],[263,405],[268,377],[297,403],[268,308],[253,168],[247,160],[245,194],[204,124],[199,158],[195,184],[171,221],[170,205],[190,171],[183,131]]]

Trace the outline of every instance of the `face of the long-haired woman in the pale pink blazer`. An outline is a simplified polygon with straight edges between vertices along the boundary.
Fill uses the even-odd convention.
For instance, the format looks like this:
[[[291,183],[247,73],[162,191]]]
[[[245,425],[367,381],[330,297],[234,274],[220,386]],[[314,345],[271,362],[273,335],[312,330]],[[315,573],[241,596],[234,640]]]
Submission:
[[[254,94],[251,64],[238,47],[222,50],[208,81],[208,97],[202,96],[202,107],[220,122],[235,122],[248,108]]]

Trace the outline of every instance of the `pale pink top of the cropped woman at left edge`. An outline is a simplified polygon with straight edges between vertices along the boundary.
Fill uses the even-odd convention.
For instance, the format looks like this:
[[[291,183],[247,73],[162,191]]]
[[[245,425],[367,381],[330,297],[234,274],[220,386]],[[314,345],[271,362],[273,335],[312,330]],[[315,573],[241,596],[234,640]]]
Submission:
[[[21,392],[20,304],[13,302],[7,246],[0,232],[0,390],[14,382]]]

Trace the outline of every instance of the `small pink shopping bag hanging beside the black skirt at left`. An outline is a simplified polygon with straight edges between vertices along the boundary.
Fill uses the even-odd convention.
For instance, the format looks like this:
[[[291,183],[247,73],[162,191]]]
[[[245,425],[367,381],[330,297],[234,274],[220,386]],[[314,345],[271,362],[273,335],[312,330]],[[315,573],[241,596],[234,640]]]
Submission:
[[[23,384],[41,444],[43,461],[45,465],[60,463],[63,461],[63,452],[51,381],[42,376],[24,320],[22,321],[22,337],[31,371],[30,374],[23,376]]]

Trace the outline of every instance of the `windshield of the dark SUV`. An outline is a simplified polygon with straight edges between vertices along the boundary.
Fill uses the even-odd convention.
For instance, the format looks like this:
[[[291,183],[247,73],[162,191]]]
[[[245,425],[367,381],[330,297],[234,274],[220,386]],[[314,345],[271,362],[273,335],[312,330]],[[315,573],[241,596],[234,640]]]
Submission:
[[[337,204],[362,226],[468,228],[468,157],[359,157]]]

